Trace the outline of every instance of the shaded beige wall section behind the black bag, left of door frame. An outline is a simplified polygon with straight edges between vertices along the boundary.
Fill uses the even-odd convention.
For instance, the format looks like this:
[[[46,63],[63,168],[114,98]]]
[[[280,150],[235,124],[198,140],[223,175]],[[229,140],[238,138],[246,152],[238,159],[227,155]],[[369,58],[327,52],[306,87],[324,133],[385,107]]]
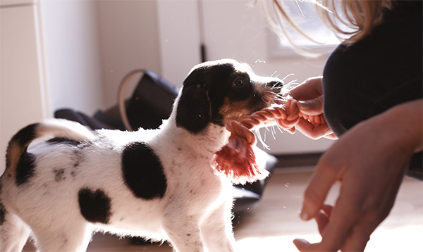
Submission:
[[[161,73],[156,1],[97,1],[104,104],[117,102],[118,86],[130,70]],[[133,77],[127,96],[140,76]]]

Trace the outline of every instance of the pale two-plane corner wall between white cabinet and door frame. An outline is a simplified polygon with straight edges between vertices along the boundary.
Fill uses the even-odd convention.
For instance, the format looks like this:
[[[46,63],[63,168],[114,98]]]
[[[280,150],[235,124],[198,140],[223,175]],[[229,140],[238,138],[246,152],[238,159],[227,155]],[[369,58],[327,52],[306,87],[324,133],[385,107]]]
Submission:
[[[130,70],[161,73],[156,1],[41,0],[39,5],[51,115],[59,108],[88,115],[106,110],[116,104],[118,85]]]

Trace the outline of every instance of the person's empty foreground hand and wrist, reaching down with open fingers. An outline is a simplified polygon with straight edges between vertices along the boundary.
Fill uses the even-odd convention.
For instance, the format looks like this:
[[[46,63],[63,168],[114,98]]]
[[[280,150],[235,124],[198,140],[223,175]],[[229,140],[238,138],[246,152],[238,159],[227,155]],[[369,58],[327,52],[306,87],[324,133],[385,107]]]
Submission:
[[[321,242],[295,239],[300,251],[364,251],[386,218],[413,153],[422,151],[422,100],[403,103],[346,132],[326,151],[305,191],[302,220],[314,218]],[[334,207],[325,205],[336,181]]]

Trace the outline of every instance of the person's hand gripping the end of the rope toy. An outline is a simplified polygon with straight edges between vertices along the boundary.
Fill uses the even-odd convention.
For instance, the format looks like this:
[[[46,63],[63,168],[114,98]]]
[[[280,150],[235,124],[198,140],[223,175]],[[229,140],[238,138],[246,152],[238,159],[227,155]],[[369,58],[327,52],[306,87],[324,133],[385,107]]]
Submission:
[[[336,139],[324,120],[321,78],[321,76],[308,78],[300,86],[290,90],[290,95],[298,101],[302,115],[295,128],[311,139],[321,137]]]

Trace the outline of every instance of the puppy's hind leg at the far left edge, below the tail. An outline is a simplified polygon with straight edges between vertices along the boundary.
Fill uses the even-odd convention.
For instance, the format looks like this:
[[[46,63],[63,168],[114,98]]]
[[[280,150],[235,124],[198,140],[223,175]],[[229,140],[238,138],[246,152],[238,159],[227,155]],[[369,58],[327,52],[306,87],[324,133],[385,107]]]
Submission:
[[[23,220],[12,213],[6,212],[0,225],[0,251],[22,251],[30,236],[31,229]]]

